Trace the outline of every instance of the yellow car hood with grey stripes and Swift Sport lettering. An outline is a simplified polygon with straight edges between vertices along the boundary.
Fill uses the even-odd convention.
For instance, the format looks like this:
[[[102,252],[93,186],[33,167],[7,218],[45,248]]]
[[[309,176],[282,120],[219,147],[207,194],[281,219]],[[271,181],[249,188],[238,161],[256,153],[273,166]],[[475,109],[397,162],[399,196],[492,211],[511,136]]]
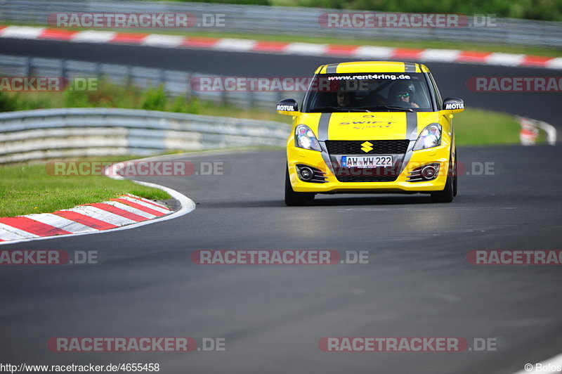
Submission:
[[[297,124],[310,127],[319,141],[414,140],[428,124],[439,122],[439,117],[439,112],[302,113]]]

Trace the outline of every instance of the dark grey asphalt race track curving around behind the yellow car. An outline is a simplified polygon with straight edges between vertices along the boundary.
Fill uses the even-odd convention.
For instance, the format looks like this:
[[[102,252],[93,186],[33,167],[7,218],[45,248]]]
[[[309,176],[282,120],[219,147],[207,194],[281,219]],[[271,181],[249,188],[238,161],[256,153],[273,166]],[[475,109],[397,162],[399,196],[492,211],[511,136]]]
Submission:
[[[72,46],[72,48],[70,48]],[[338,58],[0,40],[3,53],[223,75],[299,75]],[[443,96],[558,125],[559,93],[470,93],[468,77],[556,71],[429,64]],[[559,75],[559,74],[558,74]],[[272,108],[273,109],[273,108]],[[462,115],[462,113],[460,114]],[[98,265],[4,266],[0,357],[12,363],[159,363],[162,373],[504,373],[560,354],[559,266],[475,266],[471,250],[560,250],[559,146],[459,148],[459,195],[282,202],[282,150],[181,157],[225,175],[146,178],[197,203],[131,230],[3,245],[93,250]],[[493,165],[473,175],[471,165]],[[369,264],[197,265],[193,250],[368,251]],[[224,337],[226,352],[53,353],[51,337]],[[497,338],[496,352],[326,353],[322,337]]]

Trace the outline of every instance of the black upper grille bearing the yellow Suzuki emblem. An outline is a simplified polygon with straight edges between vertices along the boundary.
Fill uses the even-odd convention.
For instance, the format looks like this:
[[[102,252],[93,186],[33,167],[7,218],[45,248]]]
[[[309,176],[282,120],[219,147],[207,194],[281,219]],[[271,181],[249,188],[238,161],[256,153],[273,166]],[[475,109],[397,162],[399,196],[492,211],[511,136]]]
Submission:
[[[372,150],[368,152],[361,149],[365,141],[326,141],[325,143],[331,155],[403,155],[410,141],[407,139],[369,141]]]

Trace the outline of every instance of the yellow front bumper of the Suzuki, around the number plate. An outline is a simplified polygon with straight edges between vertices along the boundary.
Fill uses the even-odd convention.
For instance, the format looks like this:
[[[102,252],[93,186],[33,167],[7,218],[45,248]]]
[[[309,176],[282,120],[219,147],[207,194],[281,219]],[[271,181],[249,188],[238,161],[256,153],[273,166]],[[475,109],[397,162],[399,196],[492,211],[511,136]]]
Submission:
[[[412,145],[410,145],[411,147]],[[287,147],[287,165],[293,190],[296,192],[313,193],[424,193],[443,191],[449,169],[450,146],[443,144],[424,150],[408,149],[403,162],[400,162],[399,173],[395,181],[353,181],[342,182],[336,178],[336,167],[339,156],[328,155],[327,152],[304,150],[295,146]],[[423,165],[438,163],[438,175],[431,181],[408,181],[410,172]],[[302,181],[297,175],[296,165],[308,165],[325,173],[325,183]]]

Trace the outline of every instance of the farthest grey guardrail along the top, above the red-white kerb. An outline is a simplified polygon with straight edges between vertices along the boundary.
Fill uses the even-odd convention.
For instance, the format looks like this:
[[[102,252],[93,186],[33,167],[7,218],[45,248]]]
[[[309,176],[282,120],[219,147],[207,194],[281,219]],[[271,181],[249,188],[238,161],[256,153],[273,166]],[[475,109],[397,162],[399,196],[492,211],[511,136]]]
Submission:
[[[526,44],[561,48],[562,23],[514,18],[495,18],[495,26],[459,28],[335,28],[322,27],[322,13],[341,10],[284,6],[178,3],[174,1],[104,0],[0,0],[0,21],[46,25],[51,13],[192,13],[224,14],[224,27],[200,27],[200,32],[291,34],[296,36],[348,37],[359,39],[407,39],[437,41],[475,40],[497,44]],[[150,30],[150,29],[147,29]],[[158,29],[152,29],[158,30]],[[161,30],[161,29],[160,29]]]

